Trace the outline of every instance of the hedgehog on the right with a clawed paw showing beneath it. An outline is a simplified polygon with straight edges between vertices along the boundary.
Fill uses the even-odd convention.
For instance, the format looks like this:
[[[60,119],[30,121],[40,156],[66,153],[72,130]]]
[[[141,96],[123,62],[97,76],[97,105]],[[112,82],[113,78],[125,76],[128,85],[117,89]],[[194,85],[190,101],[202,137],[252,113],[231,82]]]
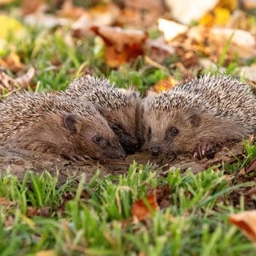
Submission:
[[[144,98],[142,127],[150,154],[202,158],[256,131],[256,100],[238,79],[206,75]]]

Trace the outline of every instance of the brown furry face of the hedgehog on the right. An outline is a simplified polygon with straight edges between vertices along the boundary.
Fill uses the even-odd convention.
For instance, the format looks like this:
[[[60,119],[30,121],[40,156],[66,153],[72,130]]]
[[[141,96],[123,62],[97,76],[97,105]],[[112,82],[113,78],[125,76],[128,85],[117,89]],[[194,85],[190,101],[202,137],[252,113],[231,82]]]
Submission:
[[[196,127],[200,124],[197,114],[183,110],[154,110],[143,114],[147,149],[153,156],[192,152]]]

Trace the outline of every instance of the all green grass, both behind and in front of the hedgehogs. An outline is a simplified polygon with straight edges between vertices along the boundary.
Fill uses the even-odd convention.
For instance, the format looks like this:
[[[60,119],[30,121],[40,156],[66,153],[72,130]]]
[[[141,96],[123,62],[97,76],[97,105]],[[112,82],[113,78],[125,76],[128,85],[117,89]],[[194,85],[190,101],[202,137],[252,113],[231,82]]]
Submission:
[[[106,76],[118,87],[135,86],[142,93],[169,75],[181,78],[178,70],[170,69],[180,61],[178,56],[166,58],[162,69],[147,66],[143,58],[110,69],[93,36],[66,40],[68,28],[26,30],[25,39],[10,38],[0,58],[15,51],[27,69],[36,68],[31,90],[64,90],[82,72]],[[218,70],[228,47],[229,42]],[[228,72],[237,64],[235,56]],[[246,142],[245,151],[244,158],[223,170],[200,174],[176,170],[161,177],[154,166],[134,162],[127,174],[99,179],[100,170],[95,170],[90,182],[85,182],[85,174],[77,177],[78,184],[70,179],[62,186],[57,186],[58,174],[47,172],[27,171],[22,182],[12,174],[0,175],[0,198],[6,200],[0,201],[0,255],[34,255],[41,250],[54,250],[56,255],[254,255],[254,245],[228,221],[230,214],[250,207],[238,191],[255,184],[255,172],[242,180],[238,172],[254,160],[256,146]],[[232,176],[229,182],[226,174]],[[133,221],[133,203],[146,198],[150,189],[166,187],[167,205],[145,221]]]

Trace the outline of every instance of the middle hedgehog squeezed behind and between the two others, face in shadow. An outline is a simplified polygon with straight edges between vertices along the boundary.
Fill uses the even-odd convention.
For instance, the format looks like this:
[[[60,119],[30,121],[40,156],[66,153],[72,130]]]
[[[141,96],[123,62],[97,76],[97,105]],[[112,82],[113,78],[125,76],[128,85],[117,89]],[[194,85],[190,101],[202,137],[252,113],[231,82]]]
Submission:
[[[140,148],[137,118],[141,98],[138,92],[131,88],[117,89],[105,78],[86,75],[71,82],[64,94],[93,102],[127,153]]]

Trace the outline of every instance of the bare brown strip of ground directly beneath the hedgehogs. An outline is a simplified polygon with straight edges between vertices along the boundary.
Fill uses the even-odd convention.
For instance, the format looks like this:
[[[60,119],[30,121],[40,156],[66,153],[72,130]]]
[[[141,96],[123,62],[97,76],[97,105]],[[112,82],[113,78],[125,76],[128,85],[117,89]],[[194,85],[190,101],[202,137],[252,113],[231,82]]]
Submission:
[[[152,157],[148,153],[138,153],[130,155],[123,162],[98,162],[87,160],[86,162],[73,162],[62,157],[56,157],[52,154],[42,154],[35,151],[10,149],[0,146],[0,174],[5,175],[10,172],[22,181],[26,170],[32,170],[35,173],[42,174],[47,170],[53,176],[58,173],[58,184],[66,182],[69,177],[79,177],[79,174],[86,173],[87,181],[93,177],[95,170],[99,169],[100,177],[108,174],[126,174],[130,164],[134,160],[138,163],[146,164],[150,162],[159,168],[159,175],[166,175],[171,170],[179,168],[181,172],[186,172],[188,168],[196,174],[206,170],[210,166],[222,166],[223,162],[237,161],[243,154],[243,144],[238,142],[233,145],[222,147],[214,155],[213,159],[202,159],[198,161],[192,156],[178,156],[178,158],[159,158]]]

